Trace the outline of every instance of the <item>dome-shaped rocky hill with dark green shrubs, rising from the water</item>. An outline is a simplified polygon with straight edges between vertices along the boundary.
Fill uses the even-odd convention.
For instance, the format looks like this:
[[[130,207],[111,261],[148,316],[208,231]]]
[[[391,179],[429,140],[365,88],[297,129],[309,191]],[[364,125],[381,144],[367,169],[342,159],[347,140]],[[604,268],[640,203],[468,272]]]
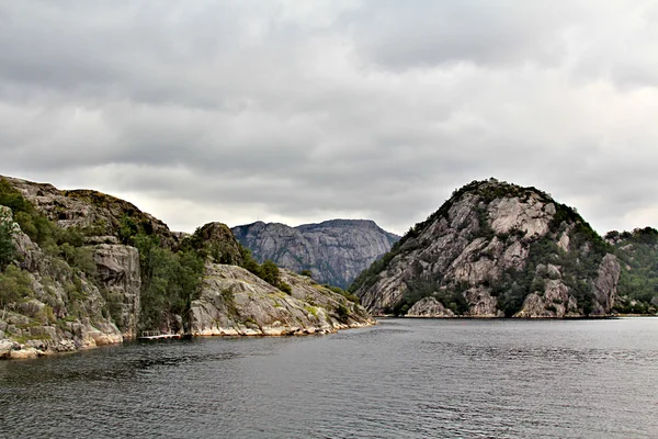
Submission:
[[[489,179],[455,191],[350,291],[374,314],[602,316],[620,271],[613,248],[574,209]]]

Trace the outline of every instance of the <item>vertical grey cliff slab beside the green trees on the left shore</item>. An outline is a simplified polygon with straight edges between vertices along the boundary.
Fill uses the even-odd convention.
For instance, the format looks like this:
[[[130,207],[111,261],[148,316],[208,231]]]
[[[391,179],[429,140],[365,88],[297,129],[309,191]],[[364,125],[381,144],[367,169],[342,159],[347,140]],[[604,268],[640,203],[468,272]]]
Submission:
[[[129,246],[100,244],[93,247],[99,280],[117,309],[115,323],[126,338],[137,337],[139,322],[139,251]]]

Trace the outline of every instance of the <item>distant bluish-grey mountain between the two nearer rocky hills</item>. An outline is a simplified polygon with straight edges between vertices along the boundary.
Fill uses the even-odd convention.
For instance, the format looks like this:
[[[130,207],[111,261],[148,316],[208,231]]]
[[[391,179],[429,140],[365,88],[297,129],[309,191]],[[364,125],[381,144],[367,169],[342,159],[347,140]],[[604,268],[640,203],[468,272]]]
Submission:
[[[231,230],[257,260],[270,259],[295,272],[309,270],[318,282],[343,289],[399,239],[367,219],[297,227],[257,222]]]

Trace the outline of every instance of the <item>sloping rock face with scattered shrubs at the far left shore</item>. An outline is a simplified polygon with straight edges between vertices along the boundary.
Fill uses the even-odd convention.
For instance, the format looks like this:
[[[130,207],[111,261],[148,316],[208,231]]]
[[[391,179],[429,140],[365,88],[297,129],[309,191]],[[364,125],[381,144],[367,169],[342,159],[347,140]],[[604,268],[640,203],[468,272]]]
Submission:
[[[0,221],[13,228],[18,266],[2,273],[0,289],[21,297],[0,309],[0,358],[34,358],[122,342],[105,314],[101,291],[66,261],[46,255],[0,206]],[[20,262],[19,262],[20,261]]]

